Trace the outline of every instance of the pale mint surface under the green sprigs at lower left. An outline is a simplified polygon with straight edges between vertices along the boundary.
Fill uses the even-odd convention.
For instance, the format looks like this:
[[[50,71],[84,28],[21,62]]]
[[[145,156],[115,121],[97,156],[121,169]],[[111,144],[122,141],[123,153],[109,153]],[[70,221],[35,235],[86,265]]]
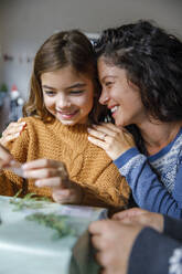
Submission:
[[[79,264],[81,261],[81,264],[84,264],[85,259],[82,259],[82,254],[84,256],[88,252],[86,251],[88,244],[83,244],[81,239],[92,221],[100,219],[103,215],[106,217],[106,210],[43,202],[43,207],[38,207],[38,209],[24,208],[15,211],[17,208],[10,202],[11,199],[14,198],[0,197],[0,273],[81,273],[82,271],[76,271],[76,268],[73,271],[73,267],[71,271],[73,249],[76,246],[77,263]],[[42,205],[42,202],[40,204]],[[76,235],[55,238],[54,229],[26,219],[28,215],[34,213],[68,217],[67,225],[76,231]],[[88,242],[88,239],[86,241]],[[93,264],[95,264],[94,261]],[[86,273],[94,274],[96,268],[96,266],[89,266]]]

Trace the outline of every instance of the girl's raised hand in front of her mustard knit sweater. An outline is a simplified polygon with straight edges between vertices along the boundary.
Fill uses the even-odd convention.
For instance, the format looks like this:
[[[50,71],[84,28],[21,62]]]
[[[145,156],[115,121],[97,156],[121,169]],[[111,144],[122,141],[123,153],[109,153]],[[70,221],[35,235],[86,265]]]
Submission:
[[[36,179],[36,187],[50,187],[52,189],[52,197],[55,202],[77,204],[82,202],[82,187],[68,179],[68,172],[63,162],[38,159],[26,162],[22,167],[26,178]]]

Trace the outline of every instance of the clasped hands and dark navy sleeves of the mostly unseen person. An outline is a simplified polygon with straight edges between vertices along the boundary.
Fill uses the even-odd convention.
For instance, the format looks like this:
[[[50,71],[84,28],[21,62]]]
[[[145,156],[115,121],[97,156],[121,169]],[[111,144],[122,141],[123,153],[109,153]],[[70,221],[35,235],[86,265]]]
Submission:
[[[108,274],[180,274],[182,220],[139,208],[89,225],[96,259]]]

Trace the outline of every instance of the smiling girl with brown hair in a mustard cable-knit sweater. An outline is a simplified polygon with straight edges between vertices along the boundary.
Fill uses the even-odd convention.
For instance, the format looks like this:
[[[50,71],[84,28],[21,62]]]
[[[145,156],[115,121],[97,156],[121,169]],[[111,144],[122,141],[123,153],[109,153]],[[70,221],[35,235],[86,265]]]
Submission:
[[[24,130],[8,144],[29,180],[3,170],[0,193],[34,192],[61,203],[126,207],[129,187],[106,152],[87,140],[104,118],[94,50],[79,31],[53,34],[35,55]],[[6,186],[6,188],[4,188]]]

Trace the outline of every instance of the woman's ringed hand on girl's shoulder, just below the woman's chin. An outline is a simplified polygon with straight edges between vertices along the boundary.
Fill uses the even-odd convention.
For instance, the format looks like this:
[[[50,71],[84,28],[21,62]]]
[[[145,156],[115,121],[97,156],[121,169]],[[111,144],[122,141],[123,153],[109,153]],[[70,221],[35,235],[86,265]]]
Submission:
[[[113,160],[135,147],[132,135],[110,123],[94,125],[93,128],[88,128],[88,133],[92,135],[88,136],[88,140],[103,148]]]

